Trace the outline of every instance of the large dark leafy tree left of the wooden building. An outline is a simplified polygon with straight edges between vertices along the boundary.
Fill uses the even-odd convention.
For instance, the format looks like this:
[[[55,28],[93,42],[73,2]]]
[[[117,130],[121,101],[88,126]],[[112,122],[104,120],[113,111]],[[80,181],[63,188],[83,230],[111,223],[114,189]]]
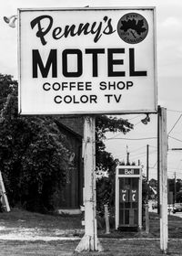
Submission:
[[[19,116],[17,82],[0,75],[0,170],[12,206],[51,210],[66,182],[66,137],[49,116]]]

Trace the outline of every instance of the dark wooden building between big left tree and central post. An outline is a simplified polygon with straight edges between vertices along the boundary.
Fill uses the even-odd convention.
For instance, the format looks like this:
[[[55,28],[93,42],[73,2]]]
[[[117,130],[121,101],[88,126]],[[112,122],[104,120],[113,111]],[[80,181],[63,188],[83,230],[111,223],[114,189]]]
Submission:
[[[82,159],[83,119],[82,117],[60,118],[57,126],[66,135],[72,152],[71,167],[66,171],[66,187],[60,193],[58,212],[79,213],[83,204],[84,166]]]

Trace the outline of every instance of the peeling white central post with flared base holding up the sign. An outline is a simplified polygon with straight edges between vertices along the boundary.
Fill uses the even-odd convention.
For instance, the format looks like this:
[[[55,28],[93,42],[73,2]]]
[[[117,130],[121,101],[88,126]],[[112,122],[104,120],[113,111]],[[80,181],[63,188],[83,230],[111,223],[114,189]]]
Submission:
[[[84,121],[84,205],[85,235],[76,251],[103,251],[97,239],[96,225],[96,118],[85,116]]]

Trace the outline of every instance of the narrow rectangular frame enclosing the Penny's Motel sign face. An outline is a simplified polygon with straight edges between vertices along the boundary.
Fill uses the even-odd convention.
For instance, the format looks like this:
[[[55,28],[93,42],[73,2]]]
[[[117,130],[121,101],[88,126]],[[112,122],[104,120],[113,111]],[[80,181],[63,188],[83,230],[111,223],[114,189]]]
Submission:
[[[85,111],[82,109],[82,111],[76,111],[72,110],[70,111],[61,111],[61,112],[47,112],[47,111],[36,111],[36,112],[25,112],[24,107],[22,104],[22,72],[21,72],[21,67],[22,67],[22,58],[21,58],[21,13],[25,12],[38,12],[38,11],[44,11],[44,12],[49,12],[49,11],[109,11],[109,10],[124,10],[130,12],[131,10],[139,11],[139,10],[151,10],[153,12],[153,63],[154,63],[154,88],[153,92],[154,95],[154,104],[152,109],[148,108],[142,108],[142,109],[126,109],[126,110],[110,110],[110,111],[105,111],[105,106],[103,107],[102,110],[97,110],[97,111]],[[18,9],[18,80],[19,80],[19,87],[18,87],[18,112],[22,115],[85,115],[85,114],[127,114],[127,113],[157,113],[157,35],[156,35],[156,7],[152,6],[147,6],[147,7],[89,7],[89,8],[20,8]]]

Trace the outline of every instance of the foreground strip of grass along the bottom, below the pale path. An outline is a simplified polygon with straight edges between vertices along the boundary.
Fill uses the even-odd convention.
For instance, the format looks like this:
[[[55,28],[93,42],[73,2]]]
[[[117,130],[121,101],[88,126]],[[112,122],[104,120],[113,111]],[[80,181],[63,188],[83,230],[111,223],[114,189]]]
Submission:
[[[105,251],[74,252],[77,241],[0,241],[1,256],[164,256],[159,240],[101,240]],[[168,254],[181,256],[181,241],[169,241]]]

